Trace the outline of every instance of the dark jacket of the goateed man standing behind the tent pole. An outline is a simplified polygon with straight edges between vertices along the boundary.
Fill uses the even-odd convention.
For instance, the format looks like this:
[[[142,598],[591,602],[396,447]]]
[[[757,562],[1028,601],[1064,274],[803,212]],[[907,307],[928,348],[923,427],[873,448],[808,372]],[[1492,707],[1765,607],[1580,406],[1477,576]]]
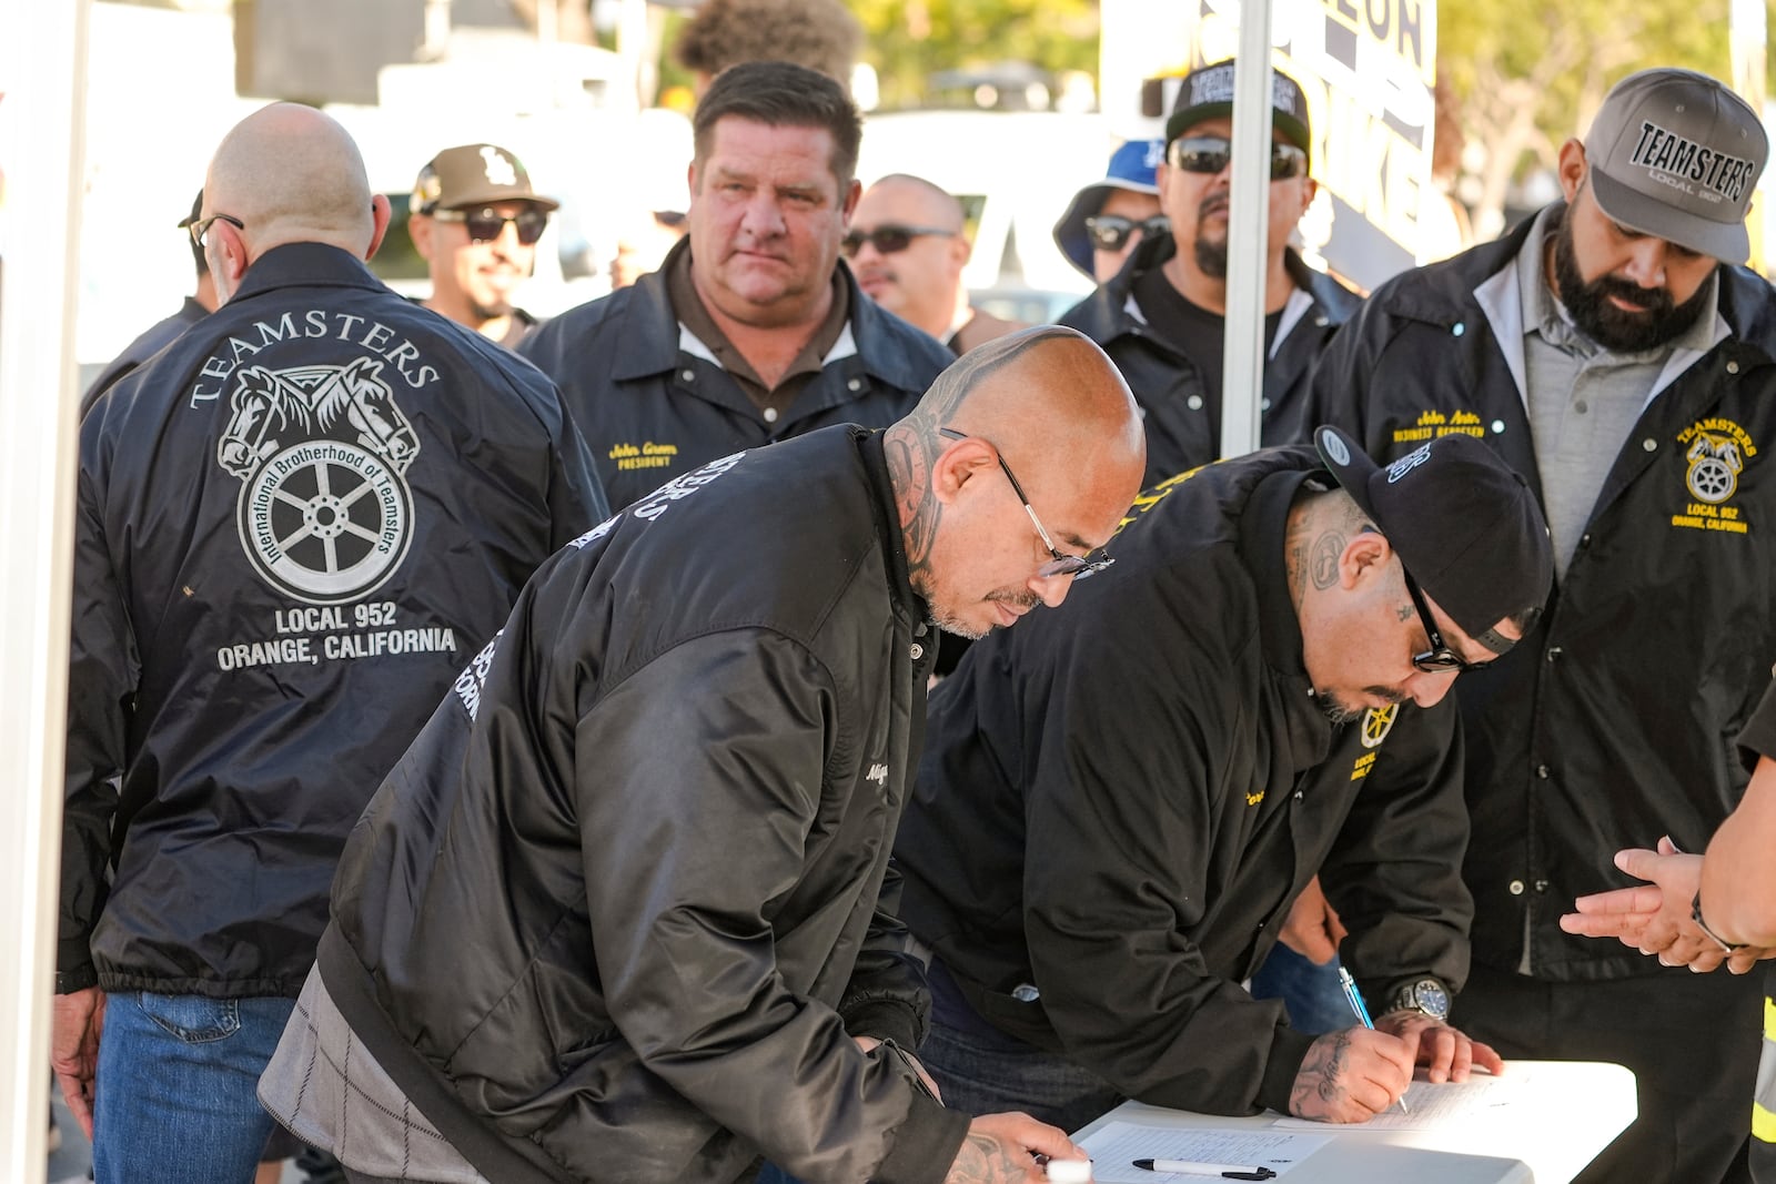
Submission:
[[[1147,426],[1146,485],[1158,485],[1220,456],[1220,440],[1209,426],[1209,407],[1220,407],[1220,391],[1206,391],[1195,362],[1165,344],[1130,311],[1135,282],[1176,252],[1170,234],[1144,238],[1121,272],[1060,318],[1062,325],[1103,346],[1135,392]],[[1307,300],[1300,312],[1284,311],[1273,353],[1265,362],[1265,446],[1307,440],[1312,428],[1305,417],[1307,383],[1314,360],[1337,327],[1362,305],[1362,296],[1307,266],[1293,249],[1286,266]]]

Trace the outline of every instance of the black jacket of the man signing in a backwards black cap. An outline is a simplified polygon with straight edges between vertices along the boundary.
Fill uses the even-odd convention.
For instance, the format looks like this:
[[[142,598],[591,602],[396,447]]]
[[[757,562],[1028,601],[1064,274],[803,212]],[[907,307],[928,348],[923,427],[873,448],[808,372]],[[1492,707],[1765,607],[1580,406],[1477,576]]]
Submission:
[[[1284,536],[1316,469],[1144,493],[1114,568],[938,685],[895,841],[900,916],[975,1010],[1156,1106],[1288,1109],[1312,1037],[1240,983],[1316,872],[1369,998],[1467,978],[1455,708],[1334,728],[1309,696]]]

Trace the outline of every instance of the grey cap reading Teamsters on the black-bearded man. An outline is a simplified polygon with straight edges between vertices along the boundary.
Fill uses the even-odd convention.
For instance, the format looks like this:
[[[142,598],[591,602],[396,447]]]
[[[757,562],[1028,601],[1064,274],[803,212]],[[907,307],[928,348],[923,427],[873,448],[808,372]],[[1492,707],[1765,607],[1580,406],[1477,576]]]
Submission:
[[[1604,98],[1584,154],[1613,220],[1724,263],[1751,257],[1746,211],[1771,142],[1726,85],[1691,69],[1629,75]]]

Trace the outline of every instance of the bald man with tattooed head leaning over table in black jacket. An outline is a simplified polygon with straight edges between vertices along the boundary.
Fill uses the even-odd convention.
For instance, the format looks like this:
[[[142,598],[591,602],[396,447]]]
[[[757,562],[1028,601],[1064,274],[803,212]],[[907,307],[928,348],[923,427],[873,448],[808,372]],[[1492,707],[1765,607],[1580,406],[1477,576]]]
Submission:
[[[886,431],[725,456],[563,550],[364,813],[266,1108],[366,1179],[1080,1156],[924,1092],[888,852],[938,628],[1058,607],[1144,458],[1103,351],[1037,328]]]

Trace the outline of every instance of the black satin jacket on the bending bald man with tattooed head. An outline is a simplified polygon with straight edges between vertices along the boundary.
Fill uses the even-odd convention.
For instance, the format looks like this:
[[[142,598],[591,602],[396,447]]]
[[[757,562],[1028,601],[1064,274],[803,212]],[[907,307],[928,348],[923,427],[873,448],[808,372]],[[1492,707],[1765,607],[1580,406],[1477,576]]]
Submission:
[[[764,1152],[941,1180],[966,1115],[851,1040],[924,1035],[877,902],[932,641],[881,437],[641,499],[531,580],[371,801],[329,994],[490,1179],[714,1182]]]

